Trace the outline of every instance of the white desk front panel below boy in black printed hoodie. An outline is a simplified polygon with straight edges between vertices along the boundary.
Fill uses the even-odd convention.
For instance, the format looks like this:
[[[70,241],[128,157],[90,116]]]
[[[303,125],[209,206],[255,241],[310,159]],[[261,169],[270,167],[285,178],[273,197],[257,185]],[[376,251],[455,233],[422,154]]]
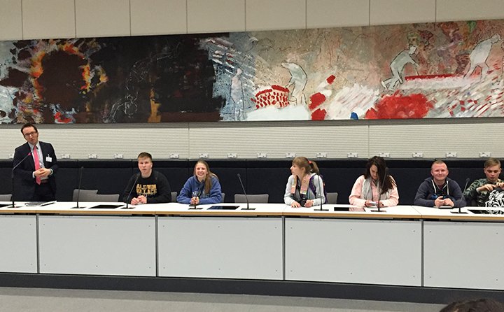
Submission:
[[[38,216],[40,273],[155,276],[155,217]]]

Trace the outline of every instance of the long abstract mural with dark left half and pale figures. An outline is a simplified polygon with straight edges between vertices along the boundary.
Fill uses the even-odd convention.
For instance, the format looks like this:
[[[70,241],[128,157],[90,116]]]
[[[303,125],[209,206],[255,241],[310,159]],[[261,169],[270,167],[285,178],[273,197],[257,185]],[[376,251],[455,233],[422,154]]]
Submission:
[[[0,122],[503,117],[503,20],[0,41]]]

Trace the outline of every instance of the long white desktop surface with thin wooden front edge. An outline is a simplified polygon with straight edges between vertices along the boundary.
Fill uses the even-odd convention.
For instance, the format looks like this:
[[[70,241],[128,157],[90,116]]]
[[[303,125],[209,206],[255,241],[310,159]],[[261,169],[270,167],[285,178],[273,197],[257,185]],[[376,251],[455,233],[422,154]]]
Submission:
[[[11,204],[8,201],[0,201],[0,204]],[[208,204],[198,205],[201,209],[191,209],[187,204],[167,203],[167,204],[142,204],[129,205],[129,209],[124,209],[125,203],[113,202],[79,202],[80,208],[74,201],[56,201],[45,206],[24,206],[23,202],[17,201],[17,208],[1,207],[1,214],[15,213],[39,213],[39,214],[71,214],[71,215],[215,215],[215,216],[254,216],[254,215],[272,215],[272,216],[306,216],[321,218],[372,218],[372,219],[437,219],[437,220],[472,220],[472,221],[504,221],[504,214],[475,214],[470,210],[489,208],[484,207],[465,207],[461,211],[463,214],[452,213],[458,211],[458,208],[439,209],[423,206],[394,206],[384,207],[384,211],[377,212],[377,208],[357,207],[347,204],[324,204],[323,208],[328,211],[317,211],[320,206],[311,208],[292,208],[285,204],[249,204],[254,210],[244,210],[246,204]],[[90,208],[99,204],[117,204],[118,208]],[[211,206],[239,206],[235,210],[212,210]],[[350,211],[334,211],[335,207],[349,207]],[[491,210],[503,211],[504,208],[492,208]]]

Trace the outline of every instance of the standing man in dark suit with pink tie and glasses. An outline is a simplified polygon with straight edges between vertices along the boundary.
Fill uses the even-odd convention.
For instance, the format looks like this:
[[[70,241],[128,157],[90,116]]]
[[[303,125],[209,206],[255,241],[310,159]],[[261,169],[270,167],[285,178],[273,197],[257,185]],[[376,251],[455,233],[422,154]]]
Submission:
[[[38,141],[38,129],[33,124],[23,125],[21,133],[27,143],[14,152],[13,197],[17,201],[53,201],[58,169],[54,148]]]

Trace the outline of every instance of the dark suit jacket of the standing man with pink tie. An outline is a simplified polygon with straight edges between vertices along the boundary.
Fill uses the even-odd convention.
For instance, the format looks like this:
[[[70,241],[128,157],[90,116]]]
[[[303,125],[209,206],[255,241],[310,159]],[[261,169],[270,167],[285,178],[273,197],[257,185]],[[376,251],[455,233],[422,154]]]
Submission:
[[[52,169],[52,175],[49,178],[49,184],[52,189],[52,194],[56,194],[56,172],[58,169],[57,159],[54,148],[50,143],[41,142],[41,152],[43,157],[43,164],[45,168]],[[13,168],[19,164],[19,166],[14,169],[14,187],[13,197],[16,201],[30,201],[31,197],[35,192],[35,178],[33,177],[33,172],[35,171],[35,162],[33,155],[25,158],[28,153],[31,153],[28,142],[22,146],[18,146],[14,152]],[[49,161],[50,160],[50,161]]]

